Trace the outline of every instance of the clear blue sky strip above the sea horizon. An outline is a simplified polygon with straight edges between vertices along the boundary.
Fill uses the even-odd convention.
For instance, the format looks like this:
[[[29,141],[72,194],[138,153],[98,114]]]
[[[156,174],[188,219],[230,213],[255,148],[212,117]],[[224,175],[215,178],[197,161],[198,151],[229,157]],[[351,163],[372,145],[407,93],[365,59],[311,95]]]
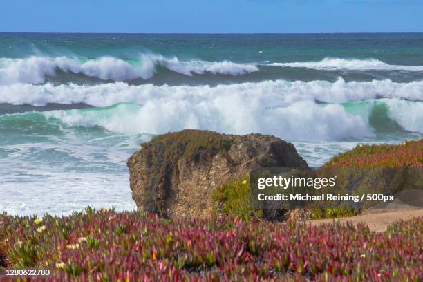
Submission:
[[[423,32],[423,0],[1,0],[0,32]]]

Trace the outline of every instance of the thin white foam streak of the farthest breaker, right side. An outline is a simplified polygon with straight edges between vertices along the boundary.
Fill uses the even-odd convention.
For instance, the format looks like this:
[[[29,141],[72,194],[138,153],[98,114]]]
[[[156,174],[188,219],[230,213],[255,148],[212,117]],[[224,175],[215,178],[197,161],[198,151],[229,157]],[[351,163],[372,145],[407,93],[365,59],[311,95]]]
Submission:
[[[319,62],[290,62],[270,63],[267,66],[282,66],[291,68],[314,68],[317,70],[357,70],[357,71],[423,71],[423,66],[401,66],[391,65],[378,59],[341,59],[325,58]]]

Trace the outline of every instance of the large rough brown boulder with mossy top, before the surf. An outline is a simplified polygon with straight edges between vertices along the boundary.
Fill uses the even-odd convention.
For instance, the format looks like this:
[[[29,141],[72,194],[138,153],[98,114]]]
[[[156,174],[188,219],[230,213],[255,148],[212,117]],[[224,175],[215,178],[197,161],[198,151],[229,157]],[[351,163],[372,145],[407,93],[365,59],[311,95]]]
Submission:
[[[184,130],[142,144],[128,160],[138,209],[170,218],[212,215],[213,191],[260,167],[308,167],[294,145],[271,135]]]

